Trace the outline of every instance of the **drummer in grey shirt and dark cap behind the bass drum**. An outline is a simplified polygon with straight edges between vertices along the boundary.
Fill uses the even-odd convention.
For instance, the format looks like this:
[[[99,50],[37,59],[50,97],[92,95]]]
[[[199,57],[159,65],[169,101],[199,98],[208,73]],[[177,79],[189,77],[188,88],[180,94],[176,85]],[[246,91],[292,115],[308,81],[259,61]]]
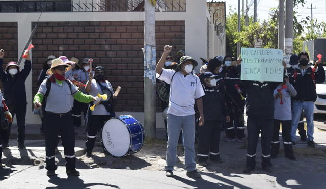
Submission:
[[[94,148],[96,134],[98,130],[101,130],[104,123],[108,121],[111,117],[115,116],[113,110],[113,101],[116,98],[113,93],[113,88],[108,80],[105,80],[105,68],[102,66],[97,66],[95,68],[95,75],[93,79],[93,74],[89,73],[89,80],[86,85],[86,92],[92,96],[97,96],[98,94],[107,95],[107,99],[102,99],[95,107],[93,111],[88,110],[88,133],[86,141],[86,156],[92,156],[92,150]],[[93,106],[91,103],[90,106]]]

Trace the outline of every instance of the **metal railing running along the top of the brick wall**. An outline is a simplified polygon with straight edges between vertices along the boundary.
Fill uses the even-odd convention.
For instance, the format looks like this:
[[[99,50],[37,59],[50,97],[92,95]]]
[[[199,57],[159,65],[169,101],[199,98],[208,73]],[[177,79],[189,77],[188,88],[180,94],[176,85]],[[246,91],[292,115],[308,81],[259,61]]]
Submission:
[[[148,0],[0,1],[0,12],[133,12]],[[186,11],[186,0],[156,0],[156,11]]]

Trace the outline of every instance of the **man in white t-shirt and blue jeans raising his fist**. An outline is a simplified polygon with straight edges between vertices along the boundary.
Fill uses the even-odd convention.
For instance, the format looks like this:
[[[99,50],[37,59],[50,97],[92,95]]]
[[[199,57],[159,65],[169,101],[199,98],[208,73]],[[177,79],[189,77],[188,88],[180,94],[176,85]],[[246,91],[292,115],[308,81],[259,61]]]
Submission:
[[[168,146],[166,176],[173,177],[173,168],[177,161],[177,145],[179,133],[182,128],[185,169],[187,176],[199,178],[201,175],[196,170],[195,163],[195,110],[196,101],[200,118],[199,126],[204,124],[203,102],[205,95],[199,78],[192,74],[198,63],[189,56],[180,58],[180,64],[175,70],[163,69],[167,55],[172,46],[166,45],[164,52],[156,65],[157,78],[170,84],[170,99],[168,109]]]

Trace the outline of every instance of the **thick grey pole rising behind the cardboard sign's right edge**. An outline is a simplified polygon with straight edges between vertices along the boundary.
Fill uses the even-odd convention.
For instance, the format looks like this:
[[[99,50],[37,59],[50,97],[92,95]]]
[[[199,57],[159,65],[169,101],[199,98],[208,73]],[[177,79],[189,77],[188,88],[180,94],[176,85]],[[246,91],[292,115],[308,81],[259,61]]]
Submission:
[[[293,53],[293,0],[286,0],[284,53]]]

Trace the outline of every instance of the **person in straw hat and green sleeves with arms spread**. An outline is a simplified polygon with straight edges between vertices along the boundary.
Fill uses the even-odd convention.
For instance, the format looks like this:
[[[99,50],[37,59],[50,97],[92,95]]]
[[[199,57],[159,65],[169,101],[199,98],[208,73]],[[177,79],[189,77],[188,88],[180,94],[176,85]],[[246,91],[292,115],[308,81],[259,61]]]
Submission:
[[[79,172],[75,169],[75,133],[73,127],[71,96],[84,103],[96,101],[96,97],[85,95],[65,78],[65,72],[71,66],[65,64],[61,59],[52,60],[52,66],[46,74],[51,75],[45,79],[37,94],[34,97],[34,107],[38,109],[42,106],[41,102],[46,97],[45,107],[45,150],[46,150],[46,169],[48,176],[54,176],[57,166],[55,165],[55,148],[57,146],[58,133],[64,144],[67,175],[78,176]]]

